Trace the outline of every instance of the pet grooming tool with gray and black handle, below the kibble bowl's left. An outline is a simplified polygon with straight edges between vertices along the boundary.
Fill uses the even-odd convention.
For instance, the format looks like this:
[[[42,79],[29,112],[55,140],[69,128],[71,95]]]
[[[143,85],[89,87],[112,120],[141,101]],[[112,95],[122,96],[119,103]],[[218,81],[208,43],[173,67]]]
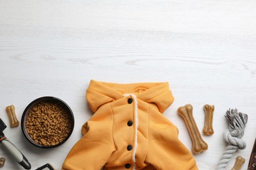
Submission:
[[[5,134],[3,134],[3,130],[6,127],[5,122],[0,118],[0,144],[5,148],[5,150],[7,150],[7,152],[9,152],[9,154],[11,154],[15,161],[22,165],[22,167],[25,169],[31,169],[30,162],[28,162],[27,158],[7,139],[7,137],[5,137]]]

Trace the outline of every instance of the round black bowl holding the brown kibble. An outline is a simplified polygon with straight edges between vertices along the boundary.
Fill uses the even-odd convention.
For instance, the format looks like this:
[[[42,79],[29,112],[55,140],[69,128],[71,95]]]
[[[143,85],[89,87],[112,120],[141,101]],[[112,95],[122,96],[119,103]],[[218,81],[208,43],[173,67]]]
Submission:
[[[61,142],[53,144],[51,146],[49,144],[39,144],[38,140],[37,140],[37,142],[35,142],[35,139],[33,139],[32,136],[30,136],[31,134],[28,133],[29,129],[26,126],[26,122],[27,122],[28,116],[29,116],[30,112],[33,111],[33,108],[38,106],[39,103],[54,103],[54,105],[58,105],[58,107],[60,107],[61,109],[65,110],[65,114],[67,114],[65,118],[68,119],[68,124],[69,124],[68,129],[70,129],[70,131],[68,131],[68,133],[65,134],[65,135],[67,135],[66,137],[62,137],[62,141]],[[59,122],[60,121],[60,120],[58,120],[58,119],[60,119],[59,117],[57,117],[57,116],[54,117],[54,115],[53,115],[53,117],[51,117],[51,114],[53,114],[53,113],[51,113],[51,112],[47,113],[48,116],[50,115],[49,118],[51,118],[51,120],[52,120],[51,122],[56,122],[56,121]],[[60,113],[60,114],[62,114],[62,113]],[[46,120],[47,116],[41,116],[40,118],[44,118],[44,117],[45,117],[45,120]],[[43,125],[41,123],[41,121],[39,121],[39,124],[40,124],[41,127],[45,127],[45,125]],[[40,97],[40,98],[35,99],[34,101],[32,101],[28,105],[28,107],[26,107],[26,109],[24,110],[24,112],[22,114],[22,120],[21,120],[22,133],[24,134],[24,136],[26,137],[26,139],[30,143],[32,143],[33,145],[35,145],[35,146],[37,146],[39,148],[54,148],[56,146],[60,146],[61,144],[65,143],[68,140],[68,138],[70,137],[70,135],[72,134],[72,131],[74,129],[74,124],[75,124],[74,115],[73,115],[73,112],[70,109],[70,107],[64,101],[62,101],[61,99],[58,99],[56,97],[50,97],[50,96]],[[46,128],[51,128],[51,127],[49,126],[49,124],[47,124]],[[65,133],[64,130],[63,131],[60,130],[58,132],[58,135],[62,135],[62,133]]]

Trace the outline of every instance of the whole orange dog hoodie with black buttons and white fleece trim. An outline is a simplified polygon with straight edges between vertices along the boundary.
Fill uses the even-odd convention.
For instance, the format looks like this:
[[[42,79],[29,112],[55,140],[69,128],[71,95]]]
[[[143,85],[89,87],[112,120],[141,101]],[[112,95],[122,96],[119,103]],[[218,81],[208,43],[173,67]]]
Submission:
[[[86,97],[94,114],[62,169],[198,169],[177,127],[163,115],[174,100],[168,82],[91,80]]]

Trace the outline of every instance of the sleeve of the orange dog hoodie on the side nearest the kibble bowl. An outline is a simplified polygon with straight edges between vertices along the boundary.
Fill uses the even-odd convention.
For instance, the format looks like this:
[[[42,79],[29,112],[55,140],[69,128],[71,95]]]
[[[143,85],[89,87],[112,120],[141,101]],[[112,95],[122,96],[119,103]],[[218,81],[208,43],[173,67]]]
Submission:
[[[83,125],[83,137],[68,153],[62,169],[101,169],[115,150],[112,124],[113,115],[110,105],[103,105],[96,110]]]

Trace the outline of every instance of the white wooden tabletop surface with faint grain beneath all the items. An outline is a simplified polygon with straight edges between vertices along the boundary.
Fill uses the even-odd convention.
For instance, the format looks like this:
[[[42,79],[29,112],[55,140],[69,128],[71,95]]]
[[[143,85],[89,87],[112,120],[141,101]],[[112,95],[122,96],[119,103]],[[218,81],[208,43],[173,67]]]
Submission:
[[[215,169],[227,143],[224,114],[237,108],[248,114],[243,139],[249,155],[256,137],[256,1],[0,1],[0,117],[5,135],[35,169],[51,163],[60,169],[81,137],[91,110],[85,92],[91,79],[117,82],[169,82],[175,102],[165,116],[179,127],[179,139],[191,150],[177,108],[194,106],[202,131],[203,105],[215,105],[209,148],[195,155],[199,169]],[[16,106],[20,120],[37,97],[63,99],[74,111],[75,128],[66,143],[40,149],[28,143],[20,126],[9,127],[5,112]],[[171,144],[171,143],[170,143]],[[2,169],[22,169],[3,148]],[[96,159],[96,158],[95,158]]]

